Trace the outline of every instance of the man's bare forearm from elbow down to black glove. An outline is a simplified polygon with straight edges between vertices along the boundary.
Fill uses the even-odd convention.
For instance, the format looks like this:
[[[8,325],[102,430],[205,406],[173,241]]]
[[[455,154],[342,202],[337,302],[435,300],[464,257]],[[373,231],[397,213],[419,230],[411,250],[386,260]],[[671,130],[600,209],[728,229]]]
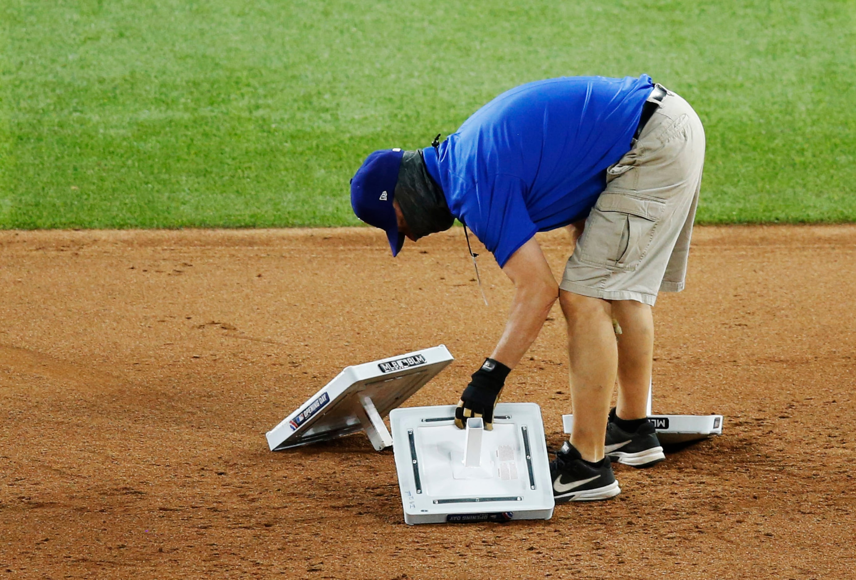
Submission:
[[[558,295],[557,286],[518,287],[508,313],[508,323],[490,358],[514,369],[538,338]]]

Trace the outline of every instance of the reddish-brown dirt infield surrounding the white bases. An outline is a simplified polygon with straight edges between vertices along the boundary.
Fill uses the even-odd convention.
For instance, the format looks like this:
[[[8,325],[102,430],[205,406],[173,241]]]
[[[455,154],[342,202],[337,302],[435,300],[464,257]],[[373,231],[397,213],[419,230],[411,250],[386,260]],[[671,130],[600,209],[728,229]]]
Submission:
[[[540,238],[555,271],[564,233]],[[457,400],[512,287],[460,228],[0,233],[0,578],[856,577],[856,227],[698,228],[655,412],[723,435],[545,522],[404,524],[366,438],[270,453],[347,364],[444,343]],[[558,307],[503,400],[570,411]]]

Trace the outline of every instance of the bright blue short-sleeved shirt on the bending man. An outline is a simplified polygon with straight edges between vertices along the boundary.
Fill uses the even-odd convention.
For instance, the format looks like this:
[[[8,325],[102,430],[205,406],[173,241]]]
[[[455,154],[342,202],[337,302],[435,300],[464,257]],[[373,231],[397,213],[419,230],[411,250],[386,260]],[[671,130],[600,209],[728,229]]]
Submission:
[[[562,77],[503,92],[425,148],[449,210],[504,266],[535,232],[585,217],[630,150],[651,77]]]

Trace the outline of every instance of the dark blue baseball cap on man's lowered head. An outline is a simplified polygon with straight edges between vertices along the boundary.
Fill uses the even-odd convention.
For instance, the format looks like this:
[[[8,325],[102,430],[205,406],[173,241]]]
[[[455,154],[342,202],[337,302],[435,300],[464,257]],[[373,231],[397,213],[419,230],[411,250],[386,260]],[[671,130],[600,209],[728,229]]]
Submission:
[[[386,232],[392,255],[404,246],[404,234],[398,231],[398,220],[392,206],[398,169],[404,151],[399,148],[373,152],[357,169],[351,180],[351,207],[363,222]]]

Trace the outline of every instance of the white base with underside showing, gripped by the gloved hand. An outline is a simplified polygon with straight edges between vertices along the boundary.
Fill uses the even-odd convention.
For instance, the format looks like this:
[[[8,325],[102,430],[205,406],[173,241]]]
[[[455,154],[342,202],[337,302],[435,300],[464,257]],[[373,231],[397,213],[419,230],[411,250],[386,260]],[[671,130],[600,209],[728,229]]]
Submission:
[[[493,430],[472,434],[455,427],[455,405],[395,409],[389,423],[407,524],[552,517],[538,405],[500,403]]]

